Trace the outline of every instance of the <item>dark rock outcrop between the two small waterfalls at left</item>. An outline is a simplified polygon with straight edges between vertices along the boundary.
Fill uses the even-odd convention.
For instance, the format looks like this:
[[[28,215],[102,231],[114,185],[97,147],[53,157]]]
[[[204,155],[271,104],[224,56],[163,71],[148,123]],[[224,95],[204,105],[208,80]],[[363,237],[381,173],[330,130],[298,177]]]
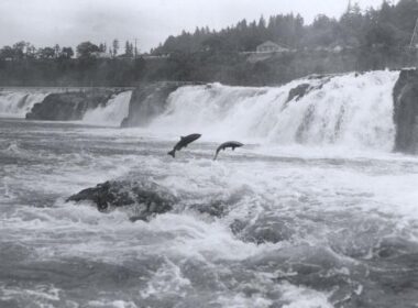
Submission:
[[[42,102],[34,105],[31,112],[26,114],[26,119],[47,121],[81,120],[88,109],[105,106],[117,94],[117,90],[111,89],[51,94]]]

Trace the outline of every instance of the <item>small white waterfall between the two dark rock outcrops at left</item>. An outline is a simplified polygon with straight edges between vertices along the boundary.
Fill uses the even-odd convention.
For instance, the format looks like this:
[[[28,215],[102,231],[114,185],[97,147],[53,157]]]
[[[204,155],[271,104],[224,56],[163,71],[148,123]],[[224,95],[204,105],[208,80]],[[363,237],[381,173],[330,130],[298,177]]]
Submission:
[[[87,110],[82,122],[103,127],[120,127],[123,119],[128,117],[131,96],[132,91],[121,92],[111,98],[106,106]]]

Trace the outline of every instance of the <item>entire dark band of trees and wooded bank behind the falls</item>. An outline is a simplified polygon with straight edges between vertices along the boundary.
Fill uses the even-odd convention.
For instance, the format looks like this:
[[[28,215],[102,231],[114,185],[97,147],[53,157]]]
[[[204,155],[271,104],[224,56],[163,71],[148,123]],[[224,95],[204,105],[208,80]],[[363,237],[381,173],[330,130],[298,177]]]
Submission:
[[[298,14],[262,16],[221,31],[184,31],[146,56],[130,42],[118,56],[117,40],[109,48],[84,42],[76,48],[77,58],[70,47],[36,50],[20,42],[0,50],[0,86],[132,86],[154,80],[272,85],[311,73],[398,68],[416,65],[418,37],[414,48],[408,46],[417,18],[417,0],[383,1],[380,9],[366,11],[353,4],[339,20],[318,15],[309,25]],[[265,41],[292,52],[249,61],[244,52]]]

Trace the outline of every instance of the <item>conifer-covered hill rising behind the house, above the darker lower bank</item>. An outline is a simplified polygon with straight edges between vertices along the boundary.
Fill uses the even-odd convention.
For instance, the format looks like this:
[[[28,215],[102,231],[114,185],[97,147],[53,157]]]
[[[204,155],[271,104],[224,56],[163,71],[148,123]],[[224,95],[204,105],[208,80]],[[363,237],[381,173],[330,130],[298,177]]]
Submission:
[[[409,44],[416,20],[418,1],[400,0],[391,4],[384,0],[380,9],[366,9],[349,4],[340,19],[318,15],[311,24],[305,24],[299,14],[261,16],[258,21],[245,19],[221,31],[197,28],[194,33],[183,31],[169,36],[153,50],[154,54],[201,51],[249,52],[265,41],[301,50],[319,46],[367,48],[382,46],[387,50],[405,48]]]

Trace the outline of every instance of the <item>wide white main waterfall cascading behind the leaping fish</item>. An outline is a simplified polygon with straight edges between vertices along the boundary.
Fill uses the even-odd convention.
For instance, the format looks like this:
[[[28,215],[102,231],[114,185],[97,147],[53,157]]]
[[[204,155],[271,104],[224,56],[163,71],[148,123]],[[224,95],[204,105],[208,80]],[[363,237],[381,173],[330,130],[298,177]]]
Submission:
[[[397,78],[396,72],[373,72],[299,79],[278,88],[183,87],[170,95],[166,112],[150,130],[389,151]],[[300,85],[308,87],[307,94],[287,101]]]

